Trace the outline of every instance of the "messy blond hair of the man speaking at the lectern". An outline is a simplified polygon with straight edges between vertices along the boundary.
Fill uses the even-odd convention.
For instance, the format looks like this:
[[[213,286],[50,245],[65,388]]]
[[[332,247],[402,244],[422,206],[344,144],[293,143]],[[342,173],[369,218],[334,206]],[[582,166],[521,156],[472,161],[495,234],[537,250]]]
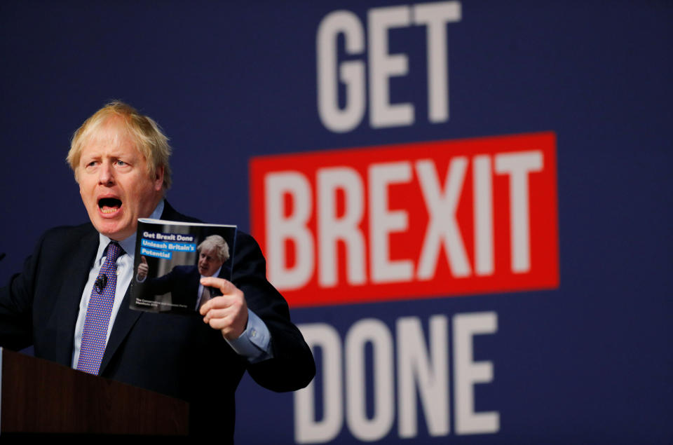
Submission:
[[[95,135],[105,123],[111,119],[120,119],[128,135],[135,140],[136,148],[147,160],[147,173],[154,178],[156,170],[163,167],[163,189],[170,188],[170,165],[169,158],[172,149],[159,125],[149,116],[143,116],[135,108],[123,102],[114,101],[106,104],[88,118],[74,135],[70,143],[70,150],[66,160],[77,177],[77,168],[82,156],[82,150],[88,140]]]

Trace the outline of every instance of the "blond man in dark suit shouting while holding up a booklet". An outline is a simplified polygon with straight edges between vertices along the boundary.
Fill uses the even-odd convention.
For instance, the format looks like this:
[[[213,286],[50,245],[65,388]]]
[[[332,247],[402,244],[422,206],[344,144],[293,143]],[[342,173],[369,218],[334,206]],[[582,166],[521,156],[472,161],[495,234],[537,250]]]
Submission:
[[[196,221],[163,198],[167,141],[151,118],[119,102],[75,132],[67,159],[90,222],[47,231],[0,289],[0,345],[34,345],[37,357],[185,399],[191,434],[217,425],[227,442],[245,371],[265,388],[290,391],[311,381],[315,364],[266,280],[257,243],[241,231],[231,280],[200,280],[222,293],[201,306],[203,319],[130,310],[137,219]]]

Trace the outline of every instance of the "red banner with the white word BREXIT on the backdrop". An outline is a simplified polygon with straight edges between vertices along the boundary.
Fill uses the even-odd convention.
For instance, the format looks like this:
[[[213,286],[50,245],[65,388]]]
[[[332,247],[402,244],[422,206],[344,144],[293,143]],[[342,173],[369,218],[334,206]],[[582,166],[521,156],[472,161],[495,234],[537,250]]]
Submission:
[[[559,285],[552,132],[263,156],[250,191],[294,307]]]

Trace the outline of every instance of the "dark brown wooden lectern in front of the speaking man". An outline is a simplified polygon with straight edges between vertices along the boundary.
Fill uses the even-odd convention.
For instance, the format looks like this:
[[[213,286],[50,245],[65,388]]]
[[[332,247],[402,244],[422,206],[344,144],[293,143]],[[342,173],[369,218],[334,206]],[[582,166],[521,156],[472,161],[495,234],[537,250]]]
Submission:
[[[188,432],[183,400],[0,348],[0,437]]]

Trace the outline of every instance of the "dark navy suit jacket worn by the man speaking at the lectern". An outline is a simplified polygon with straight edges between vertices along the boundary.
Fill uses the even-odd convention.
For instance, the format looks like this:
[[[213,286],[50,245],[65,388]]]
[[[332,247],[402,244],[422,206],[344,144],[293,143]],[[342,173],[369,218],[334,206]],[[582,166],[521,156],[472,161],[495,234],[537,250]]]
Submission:
[[[196,221],[168,203],[161,215]],[[53,228],[39,240],[22,273],[0,289],[0,345],[20,350],[34,345],[36,357],[72,364],[75,323],[88,273],[98,248],[92,224]],[[213,420],[224,441],[233,437],[234,392],[247,370],[270,390],[306,386],[315,364],[299,329],[290,322],[283,296],[266,280],[266,263],[254,239],[237,231],[231,281],[271,333],[273,358],[250,364],[198,315],[145,313],[124,297],[105,349],[100,376],[190,402],[191,434],[205,433]],[[207,378],[210,382],[207,382]]]

